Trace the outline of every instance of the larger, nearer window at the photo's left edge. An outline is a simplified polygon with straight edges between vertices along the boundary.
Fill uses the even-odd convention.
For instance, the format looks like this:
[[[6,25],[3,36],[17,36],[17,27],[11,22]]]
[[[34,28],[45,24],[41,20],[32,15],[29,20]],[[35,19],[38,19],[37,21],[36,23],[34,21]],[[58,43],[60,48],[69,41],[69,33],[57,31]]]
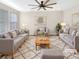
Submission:
[[[8,25],[8,11],[0,9],[0,33],[7,30]]]

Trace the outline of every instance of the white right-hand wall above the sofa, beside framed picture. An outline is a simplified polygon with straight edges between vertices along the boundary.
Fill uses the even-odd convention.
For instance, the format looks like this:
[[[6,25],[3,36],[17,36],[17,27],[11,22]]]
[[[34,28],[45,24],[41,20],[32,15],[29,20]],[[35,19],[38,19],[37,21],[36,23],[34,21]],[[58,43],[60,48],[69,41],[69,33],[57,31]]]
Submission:
[[[75,20],[73,20],[74,15],[77,13],[79,13],[79,5],[65,10],[64,11],[64,21],[69,25],[73,25],[73,23],[77,21],[76,17],[75,17]]]

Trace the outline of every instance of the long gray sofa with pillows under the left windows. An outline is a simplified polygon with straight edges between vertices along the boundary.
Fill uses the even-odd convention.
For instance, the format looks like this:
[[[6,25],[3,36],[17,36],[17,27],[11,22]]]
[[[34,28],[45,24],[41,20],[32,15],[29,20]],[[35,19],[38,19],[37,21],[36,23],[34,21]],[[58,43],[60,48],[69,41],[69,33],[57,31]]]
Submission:
[[[11,55],[29,38],[29,32],[11,31],[0,34],[0,54]]]

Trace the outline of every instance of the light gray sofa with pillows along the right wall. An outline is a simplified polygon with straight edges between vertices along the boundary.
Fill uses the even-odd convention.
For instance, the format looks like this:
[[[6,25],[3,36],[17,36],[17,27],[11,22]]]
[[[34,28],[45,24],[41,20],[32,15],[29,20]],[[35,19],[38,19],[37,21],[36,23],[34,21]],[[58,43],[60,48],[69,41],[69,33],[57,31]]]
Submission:
[[[62,33],[60,31],[59,37],[71,48],[79,50],[79,30],[75,28],[64,28]]]

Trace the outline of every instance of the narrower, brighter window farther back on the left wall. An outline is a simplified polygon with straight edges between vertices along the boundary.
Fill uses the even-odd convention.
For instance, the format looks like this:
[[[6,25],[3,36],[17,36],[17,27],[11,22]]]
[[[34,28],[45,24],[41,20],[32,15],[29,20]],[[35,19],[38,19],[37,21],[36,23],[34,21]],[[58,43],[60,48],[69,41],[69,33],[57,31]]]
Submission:
[[[17,14],[11,13],[10,15],[10,30],[14,30],[17,28]]]

